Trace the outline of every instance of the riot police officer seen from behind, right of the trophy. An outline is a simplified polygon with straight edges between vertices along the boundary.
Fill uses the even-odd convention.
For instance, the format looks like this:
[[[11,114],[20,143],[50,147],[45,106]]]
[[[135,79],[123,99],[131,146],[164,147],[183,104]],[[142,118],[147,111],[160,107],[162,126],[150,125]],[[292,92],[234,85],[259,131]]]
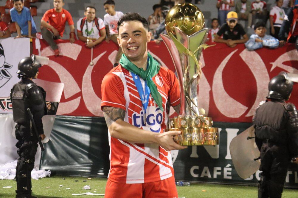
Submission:
[[[258,197],[281,197],[291,159],[298,163],[298,113],[292,103],[293,81],[281,72],[268,85],[266,102],[257,108],[253,123],[260,150]],[[297,158],[297,160],[296,160]]]

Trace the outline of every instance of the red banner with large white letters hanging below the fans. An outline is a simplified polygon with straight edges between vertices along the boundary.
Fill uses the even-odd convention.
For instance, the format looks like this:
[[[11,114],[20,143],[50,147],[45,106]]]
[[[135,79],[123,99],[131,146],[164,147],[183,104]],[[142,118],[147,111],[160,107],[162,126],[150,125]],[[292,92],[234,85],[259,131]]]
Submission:
[[[91,49],[83,42],[57,42],[61,53],[55,57],[41,40],[40,55],[49,57],[50,61],[40,68],[38,76],[42,80],[64,83],[57,114],[103,116],[101,82],[113,67],[118,46],[113,42],[97,45],[91,66]],[[148,43],[148,51],[163,67],[175,71],[163,43]],[[38,50],[33,53],[38,54]],[[200,61],[203,75],[199,84],[199,105],[218,122],[252,122],[258,104],[266,99],[269,80],[281,71],[298,73],[298,52],[291,44],[274,50],[248,51],[243,44],[229,48],[218,43],[204,50]],[[290,102],[298,106],[297,93],[298,87],[294,85]]]

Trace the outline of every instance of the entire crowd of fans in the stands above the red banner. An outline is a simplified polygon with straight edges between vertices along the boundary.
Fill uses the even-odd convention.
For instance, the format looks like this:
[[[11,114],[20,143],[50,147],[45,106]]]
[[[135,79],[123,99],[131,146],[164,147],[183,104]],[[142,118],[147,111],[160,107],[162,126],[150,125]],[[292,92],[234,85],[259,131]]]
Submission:
[[[166,34],[164,18],[171,7],[182,3],[201,4],[199,0],[161,0],[160,4],[153,5],[153,13],[148,17],[149,31],[156,44],[160,43],[160,33]],[[63,0],[53,0],[54,8],[46,11],[41,19],[41,34],[31,16],[30,10],[24,7],[24,0],[13,0],[13,8],[10,10],[11,21],[15,22],[17,36],[29,38],[43,38],[59,56],[60,51],[55,40],[63,37],[66,22],[70,28],[70,43],[74,43],[75,26],[72,15],[63,9]],[[229,47],[235,47],[238,43],[245,43],[249,50],[255,50],[263,46],[277,48],[284,45],[285,41],[295,42],[298,37],[298,0],[276,0],[276,5],[267,12],[267,4],[262,0],[217,0],[218,18],[213,18],[209,29],[209,41],[226,43]],[[231,11],[235,7],[235,12]],[[118,45],[117,22],[123,15],[115,10],[114,0],[106,0],[103,8],[107,14],[101,19],[96,17],[96,8],[87,6],[85,17],[77,21],[78,39],[85,42],[89,48],[101,43],[113,41]],[[270,35],[266,34],[266,22],[270,21]],[[255,34],[250,38],[239,20],[248,21],[248,28],[253,28]],[[288,34],[288,38],[285,38]],[[10,37],[8,24],[0,21],[0,38]],[[297,41],[298,42],[298,41]],[[115,65],[119,64],[122,50],[119,48],[115,57]]]

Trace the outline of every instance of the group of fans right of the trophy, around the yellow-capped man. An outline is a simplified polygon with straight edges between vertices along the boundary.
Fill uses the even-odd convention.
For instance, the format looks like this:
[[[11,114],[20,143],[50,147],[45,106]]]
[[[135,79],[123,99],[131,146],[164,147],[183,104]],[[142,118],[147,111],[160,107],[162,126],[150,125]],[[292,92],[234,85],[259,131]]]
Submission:
[[[276,5],[269,12],[265,1],[256,0],[217,0],[218,19],[212,19],[209,39],[212,42],[226,43],[235,47],[237,43],[245,43],[248,50],[255,50],[263,46],[277,48],[285,41],[298,42],[298,1],[276,0]],[[235,6],[235,11],[231,7]],[[270,35],[266,34],[266,22],[270,21]],[[248,21],[248,28],[254,33],[248,38],[239,20]],[[296,25],[297,24],[297,25]],[[218,28],[221,25],[221,28]],[[288,34],[288,38],[285,38]]]

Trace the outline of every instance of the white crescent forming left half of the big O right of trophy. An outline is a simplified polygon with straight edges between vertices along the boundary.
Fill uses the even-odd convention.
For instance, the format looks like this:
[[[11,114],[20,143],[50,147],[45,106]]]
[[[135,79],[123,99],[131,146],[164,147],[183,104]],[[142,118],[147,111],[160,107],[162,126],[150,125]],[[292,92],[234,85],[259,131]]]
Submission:
[[[231,56],[237,51],[231,52],[219,65],[217,68],[212,85],[212,94],[217,109],[224,114],[226,117],[240,117],[248,107],[242,105],[237,100],[233,99],[228,95],[224,89],[222,73],[226,63],[229,61]]]

